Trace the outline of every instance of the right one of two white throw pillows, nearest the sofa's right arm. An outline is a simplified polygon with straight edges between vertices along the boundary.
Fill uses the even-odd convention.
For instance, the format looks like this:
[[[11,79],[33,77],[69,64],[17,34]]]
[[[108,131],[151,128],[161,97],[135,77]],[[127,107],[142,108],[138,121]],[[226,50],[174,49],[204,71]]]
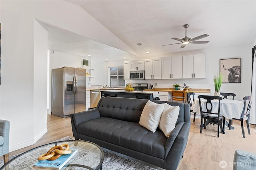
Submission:
[[[164,103],[164,111],[160,119],[159,129],[164,133],[166,137],[169,137],[175,128],[179,112],[179,106],[170,106],[169,104]]]

